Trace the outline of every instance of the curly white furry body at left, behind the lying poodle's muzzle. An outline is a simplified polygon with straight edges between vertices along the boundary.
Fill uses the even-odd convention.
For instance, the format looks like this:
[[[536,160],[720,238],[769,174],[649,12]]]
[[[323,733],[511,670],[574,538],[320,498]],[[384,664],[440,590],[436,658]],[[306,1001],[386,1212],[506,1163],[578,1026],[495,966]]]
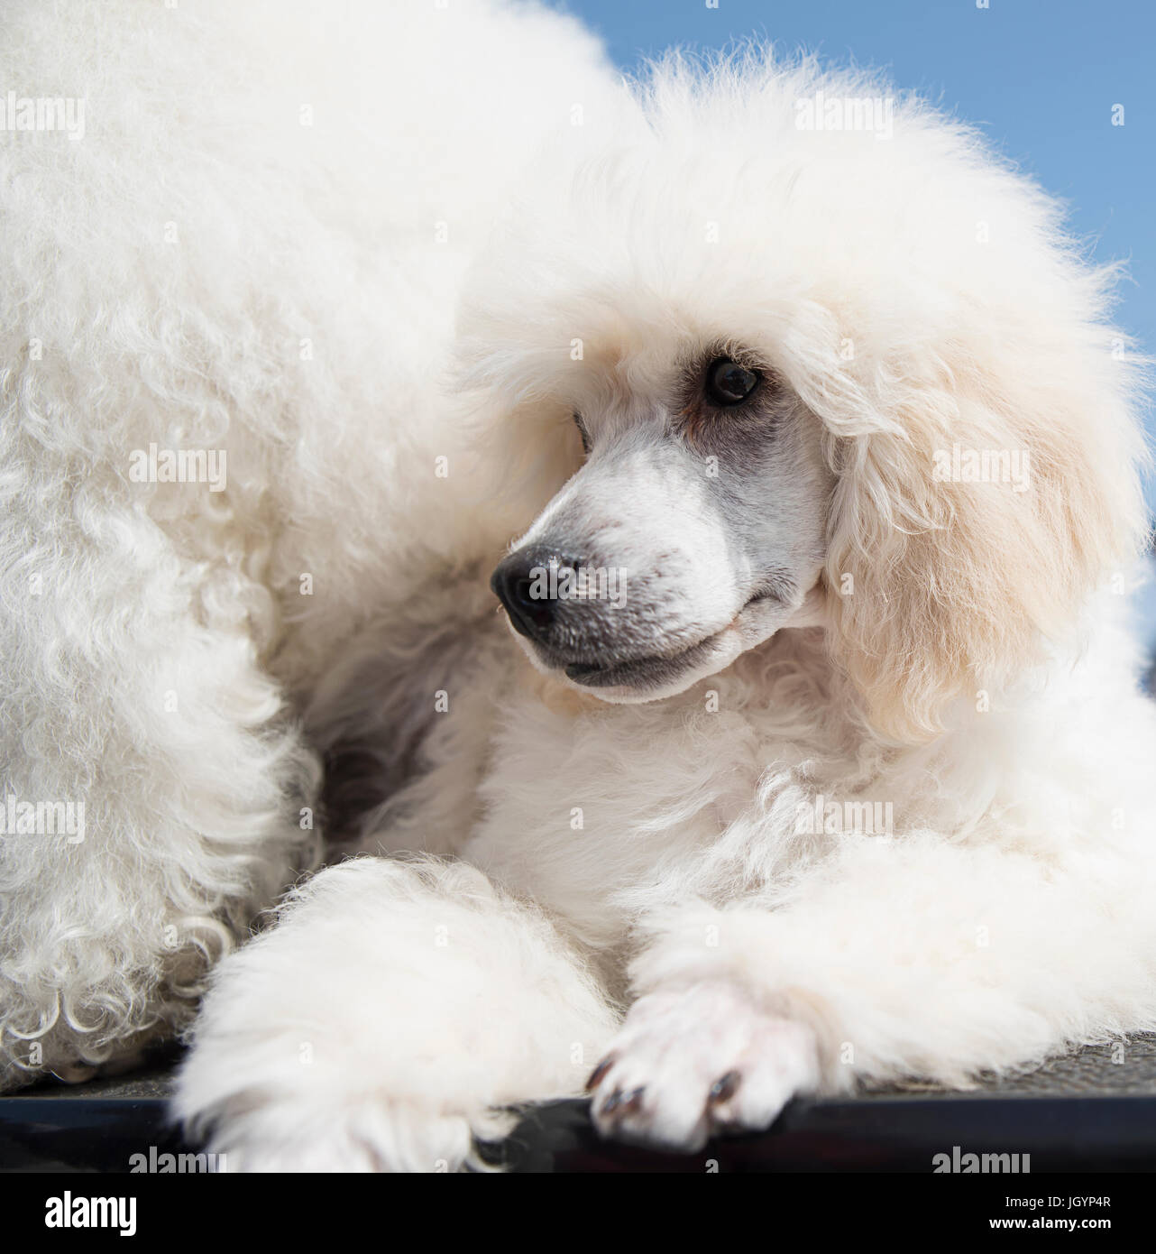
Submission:
[[[0,840],[6,1085],[188,1022],[316,860],[286,697],[517,525],[469,508],[426,385],[513,173],[611,75],[553,15],[381,8],[5,11],[0,782],[85,815],[80,841]],[[522,82],[491,80],[515,43]],[[40,98],[84,102],[75,139],[15,129]],[[134,474],[166,451],[223,453],[223,490]]]

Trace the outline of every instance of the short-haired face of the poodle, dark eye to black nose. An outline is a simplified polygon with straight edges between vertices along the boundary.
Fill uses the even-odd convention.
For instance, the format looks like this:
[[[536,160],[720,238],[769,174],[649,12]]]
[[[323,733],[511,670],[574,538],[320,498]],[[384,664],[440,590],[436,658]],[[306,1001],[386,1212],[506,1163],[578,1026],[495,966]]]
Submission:
[[[491,581],[533,660],[611,701],[680,692],[800,621],[834,483],[761,345],[631,339],[591,345],[584,464]]]

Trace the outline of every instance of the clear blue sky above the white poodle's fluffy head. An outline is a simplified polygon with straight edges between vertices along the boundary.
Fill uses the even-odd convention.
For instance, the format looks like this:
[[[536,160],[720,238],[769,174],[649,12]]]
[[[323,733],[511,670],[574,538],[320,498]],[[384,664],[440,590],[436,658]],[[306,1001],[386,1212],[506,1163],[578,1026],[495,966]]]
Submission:
[[[1156,354],[1156,0],[555,0],[633,68],[671,44],[762,35],[888,71],[978,125],[1128,262],[1117,321]],[[1112,125],[1112,108],[1125,124]],[[1148,414],[1148,430],[1156,418]],[[1156,484],[1150,485],[1156,507]]]

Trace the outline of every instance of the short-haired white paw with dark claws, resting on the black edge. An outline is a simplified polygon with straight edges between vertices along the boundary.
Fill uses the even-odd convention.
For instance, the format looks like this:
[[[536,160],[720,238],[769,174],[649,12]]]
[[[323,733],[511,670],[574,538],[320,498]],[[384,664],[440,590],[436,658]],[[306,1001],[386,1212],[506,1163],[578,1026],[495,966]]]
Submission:
[[[811,1028],[722,983],[639,998],[587,1088],[603,1136],[691,1151],[769,1127],[817,1082]]]

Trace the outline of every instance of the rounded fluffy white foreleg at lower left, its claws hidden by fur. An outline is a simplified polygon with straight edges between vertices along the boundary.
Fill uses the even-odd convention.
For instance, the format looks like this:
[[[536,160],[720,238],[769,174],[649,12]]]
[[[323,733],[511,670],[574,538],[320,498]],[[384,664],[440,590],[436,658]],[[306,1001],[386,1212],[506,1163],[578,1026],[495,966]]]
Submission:
[[[456,1170],[614,1028],[550,923],[464,863],[316,875],[217,969],[177,1114],[231,1170]]]

